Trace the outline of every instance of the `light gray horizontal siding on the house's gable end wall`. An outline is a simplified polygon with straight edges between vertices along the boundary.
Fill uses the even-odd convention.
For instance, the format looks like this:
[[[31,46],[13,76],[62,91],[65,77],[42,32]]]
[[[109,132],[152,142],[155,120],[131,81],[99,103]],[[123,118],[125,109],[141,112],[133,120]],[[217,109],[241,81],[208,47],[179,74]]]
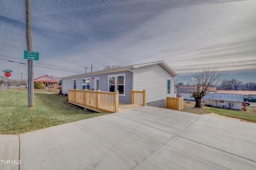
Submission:
[[[167,78],[171,79],[171,95],[174,97],[174,76],[160,64],[134,69],[134,90],[146,90],[146,102],[165,100]]]

